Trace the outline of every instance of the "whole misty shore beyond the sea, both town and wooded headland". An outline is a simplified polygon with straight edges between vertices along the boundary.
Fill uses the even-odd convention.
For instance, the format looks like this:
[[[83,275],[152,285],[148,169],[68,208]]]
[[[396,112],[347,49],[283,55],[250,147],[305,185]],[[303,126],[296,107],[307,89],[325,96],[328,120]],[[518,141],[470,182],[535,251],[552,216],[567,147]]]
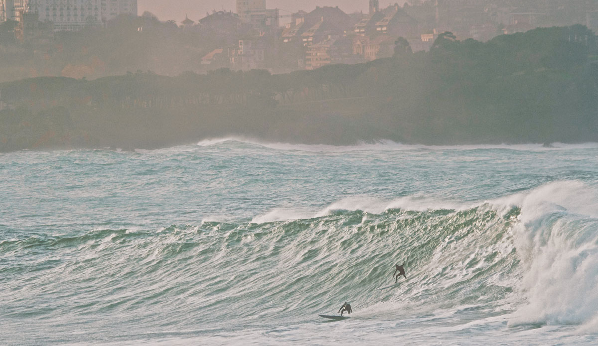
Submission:
[[[0,150],[597,140],[595,2],[267,5],[2,1]]]

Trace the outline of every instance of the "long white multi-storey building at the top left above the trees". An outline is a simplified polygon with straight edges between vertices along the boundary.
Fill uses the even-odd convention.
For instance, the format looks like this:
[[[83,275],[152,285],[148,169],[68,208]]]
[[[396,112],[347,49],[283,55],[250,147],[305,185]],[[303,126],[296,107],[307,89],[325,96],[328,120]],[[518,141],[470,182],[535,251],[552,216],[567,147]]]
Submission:
[[[53,22],[54,31],[77,31],[102,25],[120,14],[137,16],[137,0],[0,0],[4,17],[18,20],[20,11],[36,13],[40,22]]]

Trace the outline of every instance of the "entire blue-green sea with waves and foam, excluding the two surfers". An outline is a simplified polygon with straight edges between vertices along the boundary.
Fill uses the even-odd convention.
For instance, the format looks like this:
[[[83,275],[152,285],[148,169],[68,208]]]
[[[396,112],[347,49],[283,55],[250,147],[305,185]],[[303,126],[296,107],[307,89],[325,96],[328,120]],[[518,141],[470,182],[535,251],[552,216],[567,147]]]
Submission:
[[[598,343],[596,143],[231,137],[0,181],[2,345]]]

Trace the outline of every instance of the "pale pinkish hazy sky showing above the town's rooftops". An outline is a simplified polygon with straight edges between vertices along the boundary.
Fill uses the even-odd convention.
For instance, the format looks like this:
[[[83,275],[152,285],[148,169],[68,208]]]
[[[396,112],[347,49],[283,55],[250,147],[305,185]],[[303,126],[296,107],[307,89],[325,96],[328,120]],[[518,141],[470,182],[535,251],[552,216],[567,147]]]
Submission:
[[[394,4],[395,1],[380,0],[380,7]],[[404,0],[402,0],[404,2]],[[368,11],[368,0],[266,0],[267,8],[280,8],[280,14],[290,14],[297,10],[311,11],[317,6],[338,6],[345,13]],[[212,10],[236,12],[235,0],[138,0],[139,14],[150,11],[160,20],[185,19],[185,14],[197,22]],[[285,11],[286,10],[286,11]],[[289,12],[287,12],[289,11]]]

